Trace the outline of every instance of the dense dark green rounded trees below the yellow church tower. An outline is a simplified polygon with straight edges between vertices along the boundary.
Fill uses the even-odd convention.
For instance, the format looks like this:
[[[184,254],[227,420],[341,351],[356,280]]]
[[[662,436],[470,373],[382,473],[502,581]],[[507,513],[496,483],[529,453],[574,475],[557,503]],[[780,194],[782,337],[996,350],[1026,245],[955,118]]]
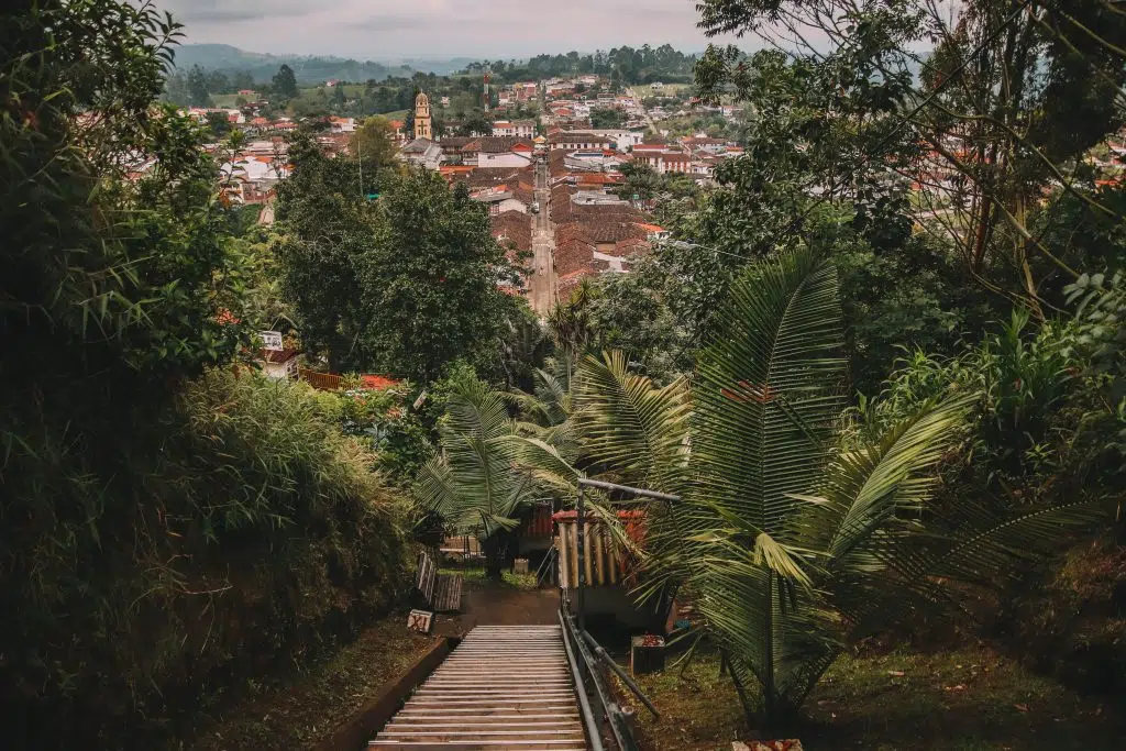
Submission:
[[[446,364],[499,360],[499,334],[519,304],[486,211],[425,170],[368,170],[329,159],[310,137],[289,150],[278,189],[278,244],[302,341],[331,369],[427,383]]]

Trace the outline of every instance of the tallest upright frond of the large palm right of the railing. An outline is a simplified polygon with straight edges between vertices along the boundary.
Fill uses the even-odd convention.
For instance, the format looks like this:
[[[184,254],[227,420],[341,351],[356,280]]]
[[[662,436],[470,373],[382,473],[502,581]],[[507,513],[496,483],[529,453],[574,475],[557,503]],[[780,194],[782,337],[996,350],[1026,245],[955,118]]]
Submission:
[[[813,252],[766,261],[734,285],[694,384],[703,495],[783,533],[789,493],[815,484],[844,405],[843,343],[837,272]]]

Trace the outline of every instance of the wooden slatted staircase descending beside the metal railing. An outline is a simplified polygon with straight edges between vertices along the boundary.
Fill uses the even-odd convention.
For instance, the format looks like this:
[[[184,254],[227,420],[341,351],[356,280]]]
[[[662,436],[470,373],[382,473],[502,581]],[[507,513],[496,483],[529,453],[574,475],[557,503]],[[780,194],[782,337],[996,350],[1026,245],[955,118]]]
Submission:
[[[587,751],[558,626],[477,626],[373,748]]]

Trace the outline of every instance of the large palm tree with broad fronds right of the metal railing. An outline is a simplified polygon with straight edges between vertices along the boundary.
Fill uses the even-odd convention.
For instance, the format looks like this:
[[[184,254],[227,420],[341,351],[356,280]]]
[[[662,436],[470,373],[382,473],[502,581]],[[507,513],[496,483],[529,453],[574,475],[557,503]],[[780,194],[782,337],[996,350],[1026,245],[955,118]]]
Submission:
[[[749,719],[793,715],[849,643],[948,605],[938,582],[986,582],[1094,510],[1082,501],[1000,517],[974,499],[928,503],[972,395],[954,392],[844,445],[846,376],[835,269],[807,251],[733,287],[690,397],[683,384],[631,375],[618,355],[589,357],[580,373],[587,458],[682,498],[650,507],[637,594],[691,593]]]

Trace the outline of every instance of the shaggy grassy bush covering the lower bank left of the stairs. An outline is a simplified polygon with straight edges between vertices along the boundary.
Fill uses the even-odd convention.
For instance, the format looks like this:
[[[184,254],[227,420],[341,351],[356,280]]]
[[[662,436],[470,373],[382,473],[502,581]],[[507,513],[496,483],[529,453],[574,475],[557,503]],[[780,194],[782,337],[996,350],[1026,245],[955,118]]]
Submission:
[[[134,424],[111,456],[79,423],[25,430],[7,457],[17,746],[151,737],[170,707],[307,658],[405,585],[405,508],[307,386],[211,370]]]

